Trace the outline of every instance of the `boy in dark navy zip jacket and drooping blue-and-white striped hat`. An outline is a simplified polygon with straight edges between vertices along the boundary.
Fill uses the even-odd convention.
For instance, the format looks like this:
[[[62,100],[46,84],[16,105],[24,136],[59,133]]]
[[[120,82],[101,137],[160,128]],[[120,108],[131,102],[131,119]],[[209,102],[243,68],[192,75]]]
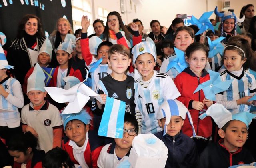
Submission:
[[[164,131],[158,132],[155,136],[164,142],[169,151],[165,168],[198,166],[196,144],[181,131],[186,114],[187,120],[192,121],[188,109],[178,100],[165,100],[160,106],[157,120]]]

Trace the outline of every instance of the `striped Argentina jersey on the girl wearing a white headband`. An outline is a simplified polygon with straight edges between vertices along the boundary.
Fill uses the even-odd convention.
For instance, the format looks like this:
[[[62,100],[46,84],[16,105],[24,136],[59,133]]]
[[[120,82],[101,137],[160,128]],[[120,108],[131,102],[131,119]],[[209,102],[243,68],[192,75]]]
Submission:
[[[244,96],[252,96],[256,92],[256,82],[255,78],[252,74],[242,71],[242,74],[238,77],[232,74],[231,72],[228,72],[225,70],[222,72],[220,75],[222,81],[226,81],[229,79],[234,79],[228,90],[222,93],[222,96],[218,94],[216,96],[216,101],[233,101],[233,100],[238,100],[240,98],[243,98]],[[240,104],[237,105],[236,107],[229,109],[226,107],[230,112],[233,114],[238,113],[238,112],[250,112],[250,106],[246,104]]]

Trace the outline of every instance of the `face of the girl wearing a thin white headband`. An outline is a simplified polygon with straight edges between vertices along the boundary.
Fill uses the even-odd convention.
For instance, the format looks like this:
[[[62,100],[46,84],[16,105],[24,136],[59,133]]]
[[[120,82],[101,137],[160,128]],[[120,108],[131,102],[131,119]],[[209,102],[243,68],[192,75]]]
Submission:
[[[224,53],[223,63],[228,71],[240,70],[245,61],[236,50],[226,50]]]

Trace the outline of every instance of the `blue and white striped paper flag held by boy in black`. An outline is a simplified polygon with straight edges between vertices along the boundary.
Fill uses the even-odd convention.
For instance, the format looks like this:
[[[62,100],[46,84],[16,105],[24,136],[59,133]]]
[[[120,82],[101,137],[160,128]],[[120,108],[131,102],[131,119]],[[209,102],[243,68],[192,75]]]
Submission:
[[[98,135],[123,138],[125,102],[107,97]]]

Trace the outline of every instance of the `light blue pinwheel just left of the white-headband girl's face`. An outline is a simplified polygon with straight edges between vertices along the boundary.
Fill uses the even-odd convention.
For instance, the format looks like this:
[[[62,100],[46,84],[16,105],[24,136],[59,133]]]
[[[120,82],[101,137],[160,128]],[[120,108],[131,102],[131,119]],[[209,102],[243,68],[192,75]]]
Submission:
[[[224,46],[220,42],[222,40],[224,40],[226,37],[220,37],[214,41],[211,41],[211,39],[209,37],[207,37],[207,38],[208,38],[208,44],[209,44],[209,49],[210,49],[208,58],[212,58],[212,57],[216,56],[216,54],[218,54],[218,53],[220,53],[220,55],[223,55]]]

